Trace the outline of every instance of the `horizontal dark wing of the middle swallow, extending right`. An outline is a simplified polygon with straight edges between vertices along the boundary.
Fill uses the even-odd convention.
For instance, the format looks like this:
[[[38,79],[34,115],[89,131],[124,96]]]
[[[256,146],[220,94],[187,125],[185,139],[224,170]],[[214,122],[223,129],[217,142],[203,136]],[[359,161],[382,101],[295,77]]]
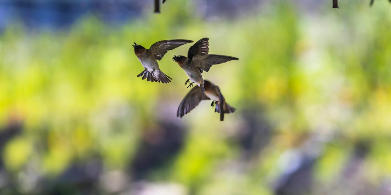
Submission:
[[[239,60],[239,58],[226,55],[201,54],[193,57],[192,64],[208,72],[210,67],[213,65],[221,64],[231,60]]]

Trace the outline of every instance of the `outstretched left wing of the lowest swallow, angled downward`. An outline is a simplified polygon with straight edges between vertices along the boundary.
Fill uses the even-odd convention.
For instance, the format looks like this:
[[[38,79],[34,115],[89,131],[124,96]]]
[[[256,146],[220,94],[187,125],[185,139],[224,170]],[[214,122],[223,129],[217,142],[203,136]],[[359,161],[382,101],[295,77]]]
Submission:
[[[176,112],[177,117],[183,117],[183,115],[189,113],[195,108],[202,100],[209,99],[209,97],[203,97],[203,92],[201,87],[195,86],[191,89],[186,96],[182,99],[181,103],[178,106],[178,111]]]

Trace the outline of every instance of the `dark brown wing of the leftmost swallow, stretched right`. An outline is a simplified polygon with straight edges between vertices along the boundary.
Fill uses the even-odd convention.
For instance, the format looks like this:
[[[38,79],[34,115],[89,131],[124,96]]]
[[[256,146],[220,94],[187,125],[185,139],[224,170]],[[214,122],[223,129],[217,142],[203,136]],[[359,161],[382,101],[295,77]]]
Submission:
[[[185,39],[159,41],[157,43],[154,43],[148,51],[151,52],[151,54],[156,58],[156,60],[161,60],[161,58],[163,58],[167,51],[173,50],[181,45],[192,42],[193,41]]]

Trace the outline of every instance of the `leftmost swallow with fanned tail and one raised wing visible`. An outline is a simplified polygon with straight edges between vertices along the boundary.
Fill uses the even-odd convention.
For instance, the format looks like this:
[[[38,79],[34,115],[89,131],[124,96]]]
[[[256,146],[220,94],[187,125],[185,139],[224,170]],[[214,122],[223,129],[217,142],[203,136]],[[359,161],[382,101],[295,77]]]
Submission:
[[[167,51],[192,42],[184,39],[159,41],[152,44],[149,50],[135,43],[133,45],[135,54],[144,67],[144,70],[137,77],[141,77],[143,80],[146,78],[147,81],[151,82],[171,82],[172,78],[160,71],[158,61],[156,60],[161,60]]]

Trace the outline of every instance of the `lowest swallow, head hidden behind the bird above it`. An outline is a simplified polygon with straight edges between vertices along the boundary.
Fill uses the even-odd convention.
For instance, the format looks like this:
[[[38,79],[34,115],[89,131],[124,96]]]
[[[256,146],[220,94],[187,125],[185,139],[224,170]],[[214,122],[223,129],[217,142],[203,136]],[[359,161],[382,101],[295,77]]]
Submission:
[[[224,113],[233,113],[235,108],[230,106],[224,96],[221,94],[220,88],[213,83],[204,80],[204,94],[201,87],[193,87],[186,96],[182,99],[179,104],[178,111],[176,112],[177,117],[183,117],[183,115],[193,110],[202,100],[213,100],[211,106],[215,106],[215,112],[220,113],[220,121],[224,121]],[[222,105],[222,106],[221,106]]]

